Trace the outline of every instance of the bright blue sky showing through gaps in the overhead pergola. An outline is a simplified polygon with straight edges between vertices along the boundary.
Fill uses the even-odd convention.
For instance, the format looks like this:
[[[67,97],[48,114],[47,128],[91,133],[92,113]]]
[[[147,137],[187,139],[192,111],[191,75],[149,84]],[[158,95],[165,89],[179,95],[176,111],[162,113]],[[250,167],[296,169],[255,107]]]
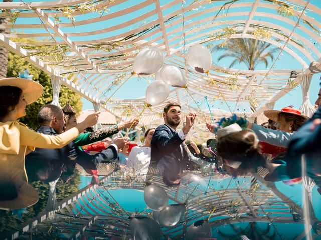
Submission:
[[[15,2],[20,2],[20,0],[14,0]],[[42,0],[32,0],[32,1],[42,1]],[[185,5],[188,5],[191,3],[192,0],[186,0],[185,2]],[[49,1],[48,1],[49,2]],[[126,1],[124,3],[121,3],[119,5],[116,5],[115,7],[112,7],[110,9],[109,12],[106,12],[105,14],[111,14],[113,12],[116,12],[118,10],[121,10],[121,9],[124,9],[124,8],[128,8],[129,6],[132,6],[134,4],[138,4],[140,2],[143,2],[143,0],[135,0],[135,1]],[[242,2],[253,2],[252,0],[244,0]],[[168,3],[167,0],[161,0],[161,5],[164,5]],[[221,6],[224,2],[223,1],[218,1],[218,2],[213,2],[212,4],[206,6],[206,7],[216,7],[216,6]],[[314,5],[320,7],[321,6],[321,1],[319,0],[311,0],[311,3],[313,3]],[[150,11],[152,9],[154,9],[154,4],[150,4],[148,5],[147,7],[144,7],[142,8],[138,13],[139,14],[143,14],[147,11]],[[177,9],[180,9],[180,4],[178,5],[175,5],[175,6],[172,6],[170,9],[166,9],[164,10],[163,14],[166,15],[168,14],[169,12],[173,11],[173,10],[177,10]],[[229,9],[228,11],[229,12],[237,12],[237,11],[249,11],[251,10],[251,7],[240,7],[239,9]],[[259,10],[259,9],[258,9]],[[272,13],[273,10],[271,9],[265,9],[267,12],[269,13]],[[224,10],[223,10],[224,11]],[[193,13],[193,12],[192,12]],[[191,12],[186,12],[185,15],[188,16],[189,14],[192,14]],[[80,20],[84,20],[84,19],[87,19],[88,17],[90,16],[95,16],[97,17],[97,14],[98,13],[90,13],[90,14],[86,14],[86,15],[80,15],[80,16],[76,16],[76,21],[80,21]],[[137,14],[137,12],[133,12],[133,13],[130,13],[127,15],[127,17],[132,17],[133,15]],[[307,11],[306,12],[307,15],[311,16],[311,17],[314,17],[315,20],[317,20],[318,22],[321,22],[321,19],[320,19],[320,16],[315,14],[313,11]],[[200,16],[200,17],[203,17],[203,16]],[[147,23],[148,21],[151,21],[151,20],[154,20],[155,16],[151,16],[147,19]],[[229,19],[234,19],[234,20],[237,20],[237,19],[247,19],[248,16],[245,15],[245,16],[240,16],[240,17],[231,17]],[[194,19],[194,18],[193,18]],[[260,17],[260,16],[254,16],[253,18],[254,20],[264,20],[264,17]],[[61,18],[62,22],[63,23],[70,23],[70,21],[68,19],[65,19],[65,18]],[[76,26],[76,27],[67,27],[67,28],[62,28],[62,30],[64,32],[86,32],[88,29],[90,30],[95,30],[95,29],[102,29],[104,27],[106,27],[106,25],[108,26],[113,26],[113,25],[117,25],[119,24],[120,21],[126,21],[127,19],[122,19],[121,17],[117,17],[117,18],[113,18],[113,19],[110,19],[108,21],[102,21],[102,22],[98,22],[98,23],[95,23],[95,24],[88,24],[86,25],[86,27],[83,27],[83,26]],[[195,18],[195,20],[197,20],[197,18]],[[224,18],[220,18],[218,19],[218,21],[221,21],[221,20],[224,20]],[[269,21],[273,24],[283,24],[282,26],[283,27],[286,27],[288,26],[289,29],[292,27],[291,25],[289,26],[287,23],[280,23],[280,21],[278,21],[277,19],[270,19],[269,18]],[[31,24],[31,23],[39,23],[39,19],[33,19],[33,18],[22,18],[22,19],[19,19],[16,21],[16,24]],[[186,24],[190,23],[189,21],[186,22]],[[112,32],[107,32],[107,33],[104,33],[104,34],[99,34],[99,35],[86,35],[86,36],[78,36],[78,37],[71,37],[72,40],[76,40],[76,41],[79,41],[79,40],[95,40],[95,39],[99,39],[99,38],[104,38],[104,37],[108,37],[110,35],[115,35],[115,34],[120,34],[120,33],[123,33],[123,32],[126,32],[126,31],[129,31],[131,30],[132,28],[134,27],[137,27],[137,25],[141,25],[142,22],[139,22],[139,23],[136,23],[136,24],[133,24],[129,27],[125,27],[125,28],[121,28],[121,29],[118,29],[116,31],[112,31]],[[215,26],[212,27],[213,29],[215,29]],[[19,31],[20,29],[16,29],[17,31]],[[28,33],[28,32],[45,32],[44,30],[42,29],[21,29],[23,30],[25,33]],[[168,27],[168,30],[169,31],[171,30],[171,27],[169,26]],[[203,30],[204,31],[204,34],[206,32],[207,29]],[[296,28],[296,32],[300,32],[301,29]],[[159,34],[159,33],[158,33]],[[181,34],[181,32],[179,32],[178,34]],[[310,36],[306,36],[306,38],[310,38]],[[59,38],[58,38],[59,40]],[[314,44],[314,46],[316,48],[320,48],[320,44],[319,44],[319,41],[317,39],[309,39],[309,41],[311,43]],[[220,41],[217,41],[217,43],[219,44]],[[218,61],[218,57],[221,55],[221,53],[216,53],[214,52],[212,54],[212,62],[213,64],[216,64],[216,65],[219,65],[219,66],[224,66],[224,67],[228,67],[230,62],[232,61],[232,59],[224,59],[222,61]],[[313,55],[313,53],[312,53]],[[303,59],[305,58],[306,59],[306,56],[300,54],[300,57],[302,57]],[[315,59],[317,59],[316,57],[314,57]],[[307,61],[308,62],[308,61]],[[270,67],[272,65],[272,62],[270,61],[269,62],[269,66]],[[237,69],[246,69],[246,66],[244,64],[239,64],[239,65],[235,65],[233,66],[233,68],[237,68]],[[265,65],[264,64],[260,64],[257,66],[258,70],[260,69],[266,69]],[[275,62],[275,65],[273,67],[272,70],[275,70],[275,69],[290,69],[290,70],[293,70],[293,69],[303,69],[301,64],[296,60],[294,59],[292,56],[290,56],[288,53],[286,52],[283,52],[280,59],[277,60]],[[317,94],[318,94],[318,90],[319,90],[319,74],[317,75],[314,75],[313,78],[312,78],[312,83],[311,83],[311,87],[310,87],[310,101],[312,104],[314,104],[316,98],[317,98]],[[123,99],[134,99],[134,98],[139,98],[139,97],[144,97],[145,96],[145,90],[148,86],[148,82],[146,82],[146,79],[142,78],[142,79],[138,79],[138,78],[135,78],[135,77],[132,77],[127,83],[125,83],[117,92],[116,94],[114,95],[114,97],[117,97],[117,98],[123,98]],[[111,91],[113,92],[113,91]],[[110,93],[111,94],[111,93]],[[86,99],[82,99],[83,101],[83,109],[93,109],[93,105],[91,102],[87,101]],[[211,108],[220,108],[220,109],[223,109],[223,110],[228,110],[227,106],[225,104],[222,104],[222,99],[220,100],[216,100],[213,104],[211,103]],[[200,101],[199,102],[200,104],[200,107],[202,109],[207,109],[207,105],[206,105],[206,102],[205,100],[203,101]],[[286,94],[285,96],[283,96],[282,98],[280,98],[276,103],[275,103],[275,106],[274,106],[274,109],[281,109],[282,107],[285,107],[285,106],[289,106],[289,105],[293,105],[295,108],[299,108],[302,104],[302,91],[301,91],[301,87],[298,86],[296,87],[295,89],[293,89],[291,92],[289,92],[288,94]],[[193,105],[193,104],[192,104]],[[244,107],[235,107],[235,102],[229,102],[229,105],[231,106],[232,109],[236,108],[240,108],[239,111],[248,111],[248,109],[242,109]],[[196,107],[196,105],[194,105],[194,107]]]

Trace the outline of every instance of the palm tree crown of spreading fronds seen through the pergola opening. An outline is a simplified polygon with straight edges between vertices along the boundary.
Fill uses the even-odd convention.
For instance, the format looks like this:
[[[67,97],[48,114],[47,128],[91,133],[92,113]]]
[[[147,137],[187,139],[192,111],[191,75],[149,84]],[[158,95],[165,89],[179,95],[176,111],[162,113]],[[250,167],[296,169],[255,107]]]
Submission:
[[[268,59],[273,61],[273,54],[278,50],[277,47],[272,48],[272,44],[250,38],[233,38],[226,41],[226,45],[217,45],[212,48],[212,52],[224,51],[218,60],[226,57],[232,57],[234,60],[230,64],[230,68],[237,63],[245,63],[249,70],[263,62],[268,66]]]

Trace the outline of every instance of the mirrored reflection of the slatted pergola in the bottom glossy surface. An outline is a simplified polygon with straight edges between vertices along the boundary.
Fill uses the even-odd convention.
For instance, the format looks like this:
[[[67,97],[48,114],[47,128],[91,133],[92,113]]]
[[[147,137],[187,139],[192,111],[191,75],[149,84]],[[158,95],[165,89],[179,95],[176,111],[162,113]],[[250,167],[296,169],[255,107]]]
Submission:
[[[214,189],[211,186],[206,195],[202,188],[194,190],[196,182],[191,183],[191,179],[197,179],[197,177],[191,177],[191,175],[183,176],[182,184],[177,188],[165,186],[159,176],[154,176],[153,183],[162,186],[169,199],[175,202],[182,203],[191,194],[184,216],[186,223],[182,221],[177,226],[163,228],[164,235],[172,239],[181,239],[184,229],[197,220],[208,218],[216,205],[217,208],[209,219],[212,227],[243,222],[267,222],[272,225],[304,223],[300,206],[283,195],[275,186],[266,186],[266,182],[259,175],[256,177],[245,177],[244,181],[239,182],[237,188],[228,188],[222,196],[225,191],[222,187]],[[214,175],[212,179],[215,182],[229,180],[229,177]],[[236,182],[237,180],[232,184]],[[111,200],[107,193],[112,194],[111,190],[117,189],[144,190],[144,188],[142,183],[124,181],[119,173],[110,174],[103,180],[102,185],[88,186],[80,190],[60,202],[59,210],[55,213],[43,212],[28,224],[23,225],[20,230],[26,233],[16,232],[14,235],[18,237],[20,234],[30,234],[28,232],[33,227],[32,232],[37,232],[43,237],[47,236],[50,228],[50,234],[57,233],[66,239],[110,235],[115,236],[115,239],[123,239],[122,237],[125,236],[128,238],[131,236],[128,215]],[[132,214],[132,212],[127,213]],[[143,210],[142,214],[148,213]],[[300,237],[304,236],[302,232]]]

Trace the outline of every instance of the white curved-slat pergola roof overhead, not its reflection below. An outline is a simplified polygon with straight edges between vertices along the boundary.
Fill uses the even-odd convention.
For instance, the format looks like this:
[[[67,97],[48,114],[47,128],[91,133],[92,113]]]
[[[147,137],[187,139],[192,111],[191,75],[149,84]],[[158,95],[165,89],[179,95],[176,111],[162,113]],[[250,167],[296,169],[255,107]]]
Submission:
[[[311,114],[312,106],[307,97],[311,80],[308,66],[321,57],[318,46],[321,23],[315,19],[321,13],[320,7],[310,0],[240,0],[225,5],[226,2],[59,0],[0,3],[0,8],[11,10],[1,16],[10,15],[12,21],[17,19],[15,24],[1,27],[24,30],[24,33],[0,34],[0,43],[49,73],[53,85],[62,83],[92,101],[95,110],[129,77],[137,52],[154,46],[164,52],[165,64],[185,70],[188,90],[197,102],[205,95],[210,101],[222,100],[220,91],[229,102],[245,103],[246,111],[250,110],[248,102],[256,106],[249,114],[255,117],[264,109],[273,108],[277,99],[301,83],[304,84],[302,110]],[[24,24],[29,21],[30,24]],[[34,37],[38,38],[36,42],[20,40]],[[193,71],[185,61],[185,53],[193,44],[207,45],[240,37],[257,38],[279,47],[281,52],[277,60],[286,52],[301,64],[302,69],[275,69],[277,60],[270,69],[258,71],[213,64],[210,75],[216,86],[208,76]],[[293,70],[299,76],[288,82]],[[184,89],[172,90],[167,101],[182,103],[185,111],[191,106],[199,111]],[[144,99],[112,98],[104,107],[120,116],[122,106],[141,112],[143,105]],[[161,112],[161,109],[161,106],[155,106],[144,114]]]

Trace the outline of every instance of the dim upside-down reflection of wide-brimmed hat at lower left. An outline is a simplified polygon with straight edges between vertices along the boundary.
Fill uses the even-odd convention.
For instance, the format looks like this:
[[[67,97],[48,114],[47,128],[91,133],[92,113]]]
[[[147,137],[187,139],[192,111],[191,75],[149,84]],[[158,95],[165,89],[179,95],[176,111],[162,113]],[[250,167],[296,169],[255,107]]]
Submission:
[[[38,192],[32,185],[29,185],[25,181],[21,181],[19,184],[15,183],[17,197],[14,199],[0,200],[0,209],[20,209],[28,206],[32,206],[38,202]]]

